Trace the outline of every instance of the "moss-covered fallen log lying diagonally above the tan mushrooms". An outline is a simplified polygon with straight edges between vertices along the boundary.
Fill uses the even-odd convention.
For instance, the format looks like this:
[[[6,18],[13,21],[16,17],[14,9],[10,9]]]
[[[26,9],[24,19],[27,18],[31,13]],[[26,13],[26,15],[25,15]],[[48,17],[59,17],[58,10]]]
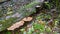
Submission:
[[[33,13],[35,13],[35,6],[40,4],[39,1],[33,1],[27,5],[21,6],[17,11],[14,13],[12,8],[8,8],[7,13],[4,13],[3,16],[0,16],[0,31],[5,30],[6,28],[10,27],[12,24],[20,21],[24,17],[27,17]],[[12,6],[13,7],[13,6]],[[5,10],[4,10],[5,11]],[[1,11],[0,11],[1,12]]]

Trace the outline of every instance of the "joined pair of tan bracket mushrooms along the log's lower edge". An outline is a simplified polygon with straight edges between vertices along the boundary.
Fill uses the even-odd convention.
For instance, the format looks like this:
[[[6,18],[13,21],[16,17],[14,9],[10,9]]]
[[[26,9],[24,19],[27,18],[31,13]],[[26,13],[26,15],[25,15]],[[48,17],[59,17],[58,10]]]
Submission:
[[[25,23],[24,21],[31,21],[32,19],[33,19],[32,17],[23,18],[21,21],[16,22],[15,24],[7,28],[7,30],[15,30],[16,28],[22,26]]]

